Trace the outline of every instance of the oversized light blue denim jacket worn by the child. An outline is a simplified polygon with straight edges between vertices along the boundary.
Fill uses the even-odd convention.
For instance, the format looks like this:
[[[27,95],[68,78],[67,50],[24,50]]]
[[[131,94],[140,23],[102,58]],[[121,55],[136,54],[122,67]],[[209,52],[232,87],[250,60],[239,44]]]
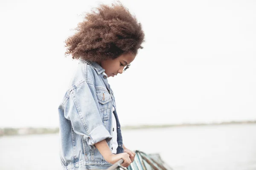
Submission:
[[[104,69],[79,59],[78,68],[58,107],[60,158],[63,170],[107,169],[111,166],[95,143],[104,139],[112,148],[112,120],[116,120],[116,153],[123,153],[122,135],[113,91]],[[114,116],[112,117],[112,106]]]

